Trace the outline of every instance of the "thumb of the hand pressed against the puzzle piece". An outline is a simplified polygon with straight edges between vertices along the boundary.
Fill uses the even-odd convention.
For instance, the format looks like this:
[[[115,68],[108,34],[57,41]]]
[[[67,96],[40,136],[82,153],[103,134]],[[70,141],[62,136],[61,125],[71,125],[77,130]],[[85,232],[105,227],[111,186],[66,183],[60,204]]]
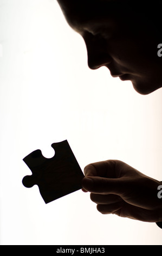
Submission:
[[[82,180],[84,190],[94,194],[117,194],[121,195],[125,191],[124,182],[121,178],[109,179],[96,176],[86,176]]]

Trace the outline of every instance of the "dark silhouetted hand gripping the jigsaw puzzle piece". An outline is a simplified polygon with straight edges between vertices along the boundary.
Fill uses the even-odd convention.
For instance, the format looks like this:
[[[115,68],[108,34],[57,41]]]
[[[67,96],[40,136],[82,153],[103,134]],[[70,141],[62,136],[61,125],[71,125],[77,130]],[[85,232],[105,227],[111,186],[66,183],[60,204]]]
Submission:
[[[162,221],[159,185],[160,181],[118,160],[88,164],[82,180],[82,190],[90,192],[91,200],[102,214],[146,222]]]

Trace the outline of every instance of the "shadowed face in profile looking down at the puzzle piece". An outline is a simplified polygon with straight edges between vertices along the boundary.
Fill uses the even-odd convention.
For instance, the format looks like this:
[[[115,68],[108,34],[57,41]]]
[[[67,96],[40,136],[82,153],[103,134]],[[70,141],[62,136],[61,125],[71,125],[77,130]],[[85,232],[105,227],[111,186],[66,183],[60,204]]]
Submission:
[[[94,14],[93,7],[85,15],[82,1],[77,0],[83,10],[77,13],[67,0],[61,2],[66,2],[66,8],[62,4],[61,8],[69,25],[85,40],[90,69],[106,66],[113,77],[130,80],[140,94],[162,86],[162,57],[157,54],[160,41],[156,29],[142,15],[122,15],[122,10],[101,15],[96,9]]]

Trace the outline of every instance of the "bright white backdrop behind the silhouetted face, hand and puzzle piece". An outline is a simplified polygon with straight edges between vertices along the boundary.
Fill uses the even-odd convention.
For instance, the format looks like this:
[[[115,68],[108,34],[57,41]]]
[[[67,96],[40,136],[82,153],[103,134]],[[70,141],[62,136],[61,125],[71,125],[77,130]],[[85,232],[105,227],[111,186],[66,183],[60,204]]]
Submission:
[[[142,96],[85,44],[56,0],[0,1],[1,245],[162,245],[161,229],[101,215],[81,190],[45,204],[22,159],[67,139],[80,167],[118,159],[162,180],[161,89]],[[162,203],[162,202],[161,202]]]

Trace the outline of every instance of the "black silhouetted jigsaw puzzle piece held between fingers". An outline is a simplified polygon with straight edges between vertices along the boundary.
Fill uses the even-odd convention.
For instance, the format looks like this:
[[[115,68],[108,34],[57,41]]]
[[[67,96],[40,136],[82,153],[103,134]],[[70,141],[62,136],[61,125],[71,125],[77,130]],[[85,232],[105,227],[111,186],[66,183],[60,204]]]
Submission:
[[[23,159],[33,173],[23,178],[23,185],[37,185],[46,204],[80,190],[84,178],[67,140],[53,143],[51,147],[55,150],[51,159],[44,157],[40,149]]]

